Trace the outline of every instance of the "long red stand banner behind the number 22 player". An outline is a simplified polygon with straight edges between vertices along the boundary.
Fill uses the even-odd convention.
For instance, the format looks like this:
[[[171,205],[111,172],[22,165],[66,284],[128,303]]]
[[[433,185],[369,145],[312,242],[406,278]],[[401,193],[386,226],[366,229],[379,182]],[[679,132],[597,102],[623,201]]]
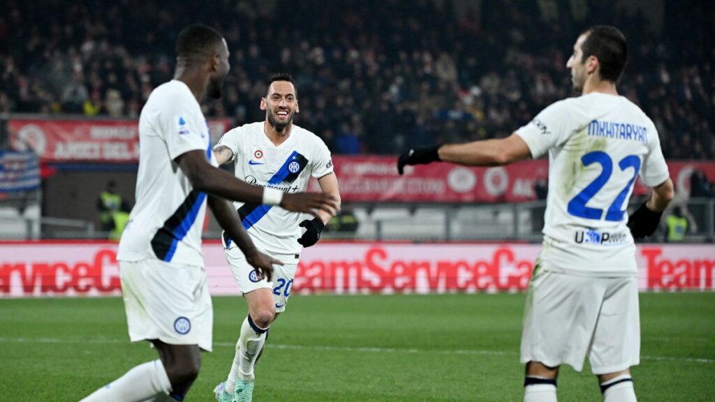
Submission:
[[[398,175],[396,157],[334,156],[340,197],[347,202],[523,202],[536,200],[536,180],[548,179],[548,160],[526,160],[503,167],[463,167],[434,163],[405,167]],[[690,175],[701,170],[715,181],[711,162],[669,162],[676,189],[689,192]],[[317,182],[310,190],[317,191]],[[633,195],[648,193],[636,182]]]

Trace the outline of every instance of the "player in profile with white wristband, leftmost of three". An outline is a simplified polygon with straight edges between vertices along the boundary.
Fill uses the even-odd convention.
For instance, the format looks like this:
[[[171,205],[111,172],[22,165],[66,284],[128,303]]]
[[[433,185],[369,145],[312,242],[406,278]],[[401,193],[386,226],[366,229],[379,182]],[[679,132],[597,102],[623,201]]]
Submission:
[[[267,277],[272,265],[282,263],[257,250],[223,198],[308,213],[337,208],[325,194],[284,195],[216,167],[199,102],[206,94],[220,97],[228,55],[217,31],[187,26],[177,38],[174,79],[154,89],[142,109],[137,204],[117,260],[129,338],[149,340],[159,360],[132,368],[84,401],[184,400],[199,373],[200,350],[212,349],[213,310],[201,250],[206,201],[255,275]]]

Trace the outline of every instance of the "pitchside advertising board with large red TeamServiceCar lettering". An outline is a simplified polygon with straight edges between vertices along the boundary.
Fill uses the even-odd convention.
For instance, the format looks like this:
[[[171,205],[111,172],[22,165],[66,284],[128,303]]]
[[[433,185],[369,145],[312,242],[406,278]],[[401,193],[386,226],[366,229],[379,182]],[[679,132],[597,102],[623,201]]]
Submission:
[[[325,242],[306,249],[295,293],[526,290],[540,245]],[[0,244],[0,298],[119,295],[117,245]],[[212,295],[237,295],[220,243],[204,244]],[[641,290],[715,290],[715,246],[638,245]]]

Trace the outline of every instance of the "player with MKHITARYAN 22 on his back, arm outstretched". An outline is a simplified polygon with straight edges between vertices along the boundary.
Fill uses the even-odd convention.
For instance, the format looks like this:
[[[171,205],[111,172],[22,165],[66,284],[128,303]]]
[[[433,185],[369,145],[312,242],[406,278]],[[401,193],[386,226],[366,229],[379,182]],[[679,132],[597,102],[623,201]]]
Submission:
[[[548,152],[543,249],[529,285],[521,337],[524,401],[556,401],[561,364],[581,371],[588,356],[607,402],[636,401],[630,367],[640,359],[638,278],[633,237],[652,235],[673,183],[651,119],[618,95],[626,38],[593,26],[566,67],[581,93],[551,104],[503,139],[408,150],[405,165],[452,162],[496,166]],[[628,217],[640,175],[651,197]]]

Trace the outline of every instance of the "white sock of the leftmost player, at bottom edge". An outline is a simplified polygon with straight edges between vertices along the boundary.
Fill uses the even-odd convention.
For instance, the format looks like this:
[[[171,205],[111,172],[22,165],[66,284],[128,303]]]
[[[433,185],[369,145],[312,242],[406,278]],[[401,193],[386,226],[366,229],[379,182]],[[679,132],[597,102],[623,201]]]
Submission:
[[[141,402],[171,391],[172,384],[169,383],[162,361],[155,360],[132,368],[124,376],[99,388],[80,402]]]

